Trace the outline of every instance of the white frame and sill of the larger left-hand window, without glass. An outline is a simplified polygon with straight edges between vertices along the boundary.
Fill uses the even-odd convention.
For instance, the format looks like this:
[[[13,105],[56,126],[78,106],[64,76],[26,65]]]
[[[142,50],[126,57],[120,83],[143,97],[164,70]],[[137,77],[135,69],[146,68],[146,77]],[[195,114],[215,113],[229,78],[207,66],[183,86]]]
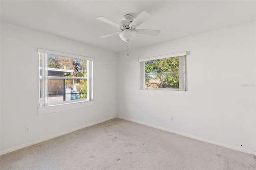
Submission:
[[[48,49],[38,48],[38,53],[42,53],[42,76],[39,74],[39,80],[42,79],[42,99],[43,102],[40,104],[40,89],[39,89],[39,107],[38,115],[54,113],[59,111],[66,111],[70,109],[77,109],[81,107],[93,106],[93,61],[94,58],[85,57],[81,55],[74,55],[70,53],[63,53],[59,51],[52,51]],[[65,57],[72,57],[78,59],[87,60],[87,77],[53,77],[48,76],[48,54],[61,55]],[[71,101],[62,101],[55,103],[48,103],[48,79],[87,79],[87,99],[77,99]]]

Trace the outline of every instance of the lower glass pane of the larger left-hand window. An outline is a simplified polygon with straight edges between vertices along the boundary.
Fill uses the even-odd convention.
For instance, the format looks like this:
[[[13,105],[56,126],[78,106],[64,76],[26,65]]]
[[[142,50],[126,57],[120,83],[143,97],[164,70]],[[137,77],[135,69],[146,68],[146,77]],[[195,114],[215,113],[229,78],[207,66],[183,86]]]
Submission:
[[[48,79],[48,103],[76,99],[87,99],[87,80]]]

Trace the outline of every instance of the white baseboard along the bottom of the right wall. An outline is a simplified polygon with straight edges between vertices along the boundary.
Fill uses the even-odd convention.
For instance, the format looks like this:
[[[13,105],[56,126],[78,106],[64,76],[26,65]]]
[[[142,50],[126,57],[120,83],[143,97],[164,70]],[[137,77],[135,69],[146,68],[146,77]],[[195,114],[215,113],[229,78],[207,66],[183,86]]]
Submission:
[[[126,121],[138,123],[140,125],[145,125],[145,126],[148,126],[148,127],[157,128],[157,129],[164,130],[164,131],[167,131],[167,132],[172,132],[172,133],[175,133],[175,134],[179,134],[179,135],[182,135],[182,136],[186,136],[186,137],[193,138],[193,139],[196,139],[196,140],[200,140],[200,141],[203,141],[203,142],[207,142],[207,143],[210,143],[210,144],[215,144],[215,145],[222,146],[222,147],[225,147],[225,148],[237,150],[237,151],[244,152],[244,153],[247,153],[247,154],[253,154],[253,155],[256,156],[256,152],[252,151],[252,150],[247,150],[247,149],[244,149],[244,148],[238,148],[236,146],[232,146],[232,145],[229,145],[229,144],[224,144],[224,143],[221,143],[221,142],[216,142],[214,140],[209,140],[209,139],[206,139],[206,138],[201,138],[201,137],[198,137],[198,136],[194,136],[194,135],[191,135],[191,134],[186,134],[186,133],[183,133],[183,132],[178,132],[178,131],[171,130],[171,129],[168,129],[168,128],[158,127],[158,126],[155,126],[155,125],[151,125],[151,124],[140,122],[140,121],[135,121],[133,119],[128,119],[128,118],[125,118],[125,117],[120,117],[120,116],[117,116],[117,117],[119,119],[124,119]]]

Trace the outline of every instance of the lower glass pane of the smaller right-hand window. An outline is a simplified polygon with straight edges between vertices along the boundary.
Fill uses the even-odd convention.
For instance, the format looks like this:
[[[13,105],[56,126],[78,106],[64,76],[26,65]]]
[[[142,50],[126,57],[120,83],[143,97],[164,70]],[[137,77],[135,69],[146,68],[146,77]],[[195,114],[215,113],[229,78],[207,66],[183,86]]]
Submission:
[[[179,88],[179,74],[145,75],[145,88]]]

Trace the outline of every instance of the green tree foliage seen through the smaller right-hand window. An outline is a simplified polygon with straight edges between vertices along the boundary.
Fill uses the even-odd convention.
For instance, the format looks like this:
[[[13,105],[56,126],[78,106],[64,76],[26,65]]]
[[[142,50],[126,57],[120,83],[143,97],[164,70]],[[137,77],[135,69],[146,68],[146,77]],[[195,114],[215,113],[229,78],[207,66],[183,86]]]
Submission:
[[[145,61],[145,86],[149,88],[179,88],[179,74],[153,74],[171,73],[179,71],[179,57]]]

